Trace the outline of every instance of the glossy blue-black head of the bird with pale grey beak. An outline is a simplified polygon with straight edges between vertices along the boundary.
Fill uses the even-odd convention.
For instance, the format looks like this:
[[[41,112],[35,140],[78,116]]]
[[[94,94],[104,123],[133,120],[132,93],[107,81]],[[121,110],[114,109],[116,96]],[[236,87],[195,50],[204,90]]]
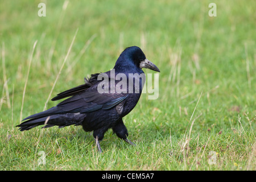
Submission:
[[[137,69],[148,68],[153,71],[160,72],[155,64],[146,59],[141,48],[137,46],[127,47],[118,57],[114,69],[126,67],[134,67]]]

